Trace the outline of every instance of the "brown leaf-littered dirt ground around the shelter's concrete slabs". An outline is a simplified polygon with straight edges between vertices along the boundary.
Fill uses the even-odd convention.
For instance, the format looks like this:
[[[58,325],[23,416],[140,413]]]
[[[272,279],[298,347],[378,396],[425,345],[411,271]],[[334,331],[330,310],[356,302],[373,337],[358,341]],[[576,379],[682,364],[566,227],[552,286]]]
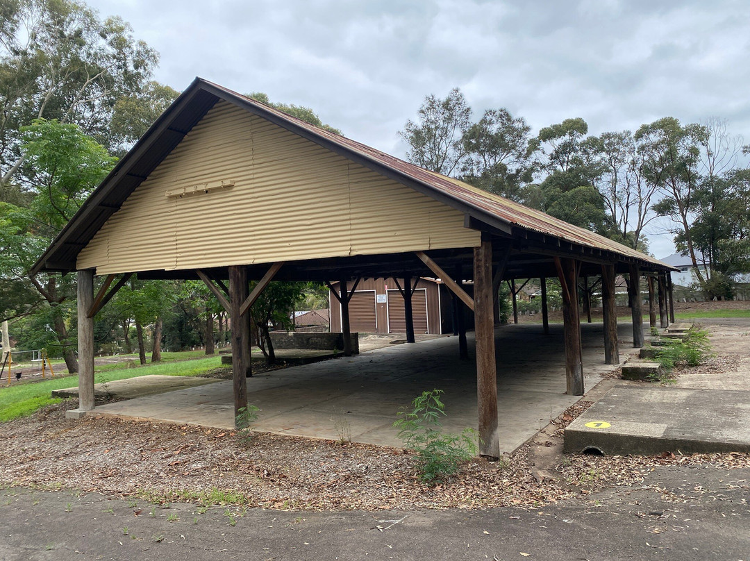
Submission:
[[[683,371],[679,380],[702,377],[692,387],[711,387],[724,377],[747,380],[750,320],[711,320],[707,327],[718,356]],[[271,434],[245,440],[232,431],[113,419],[69,421],[64,412],[74,404],[65,402],[0,425],[0,485],[280,510],[536,507],[641,484],[661,466],[750,467],[747,454],[562,455],[562,428],[611,383],[604,380],[509,457],[471,460],[437,486],[420,481],[414,455],[403,449]]]

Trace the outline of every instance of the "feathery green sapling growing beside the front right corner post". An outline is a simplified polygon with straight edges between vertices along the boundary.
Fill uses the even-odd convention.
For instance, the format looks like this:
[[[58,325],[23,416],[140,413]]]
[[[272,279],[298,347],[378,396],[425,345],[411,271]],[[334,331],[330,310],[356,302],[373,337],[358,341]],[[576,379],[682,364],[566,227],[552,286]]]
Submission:
[[[443,390],[422,392],[412,401],[411,411],[400,411],[393,426],[407,448],[418,455],[422,481],[435,484],[458,472],[460,462],[476,454],[476,432],[466,428],[461,434],[443,434],[440,418],[446,416],[440,400]]]

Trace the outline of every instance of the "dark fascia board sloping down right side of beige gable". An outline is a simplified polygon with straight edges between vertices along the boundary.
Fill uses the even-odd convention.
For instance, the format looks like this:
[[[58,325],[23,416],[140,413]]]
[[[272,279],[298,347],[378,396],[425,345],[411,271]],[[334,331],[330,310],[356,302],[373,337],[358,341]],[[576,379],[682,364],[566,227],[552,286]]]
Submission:
[[[320,145],[322,148],[326,148],[334,152],[335,154],[344,156],[348,160],[359,163],[362,166],[367,167],[368,169],[372,169],[374,172],[380,173],[380,175],[385,175],[389,179],[398,181],[398,183],[404,184],[407,187],[411,187],[417,192],[422,193],[423,195],[430,196],[432,199],[443,202],[444,204],[456,208],[459,211],[463,211],[466,214],[471,214],[472,216],[478,217],[483,222],[505,233],[510,233],[511,223],[507,220],[503,220],[498,216],[494,216],[493,214],[484,211],[484,209],[475,207],[474,205],[470,205],[465,201],[455,199],[447,193],[442,193],[432,187],[430,184],[427,184],[424,181],[419,181],[419,179],[413,178],[411,175],[401,172],[398,169],[393,169],[392,167],[386,166],[385,164],[380,163],[379,161],[374,160],[365,154],[360,154],[359,152],[354,151],[347,146],[338,144],[337,142],[333,142],[331,139],[316,133],[314,130],[302,127],[293,121],[289,121],[281,117],[280,115],[273,113],[272,111],[266,110],[263,105],[261,105],[257,101],[251,101],[248,98],[239,97],[238,95],[233,94],[232,92],[227,92],[226,90],[221,89],[220,87],[215,86],[214,84],[211,84],[209,82],[203,82],[202,87],[207,89],[212,94],[216,95],[218,98],[223,99],[223,101],[234,104],[238,107],[242,107],[243,109],[248,110],[249,113],[253,113],[254,115],[264,118],[266,119],[266,121],[272,122],[278,127],[289,130],[291,133],[302,136],[302,138],[308,139],[311,142]]]

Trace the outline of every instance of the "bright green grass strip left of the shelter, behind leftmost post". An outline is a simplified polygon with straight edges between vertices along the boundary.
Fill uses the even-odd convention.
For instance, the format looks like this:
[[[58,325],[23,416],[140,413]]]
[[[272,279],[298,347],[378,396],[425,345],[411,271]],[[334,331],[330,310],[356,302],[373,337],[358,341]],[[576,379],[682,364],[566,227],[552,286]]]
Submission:
[[[197,351],[191,351],[190,353],[197,353]],[[190,357],[185,357],[185,353],[164,354],[171,355],[170,359],[172,362],[167,362],[166,364],[157,362],[153,365],[144,365],[137,368],[127,368],[127,363],[117,365],[119,368],[112,368],[115,365],[104,365],[102,368],[97,368],[94,375],[94,382],[112,382],[113,380],[148,376],[149,374],[199,376],[220,367],[218,356],[178,361],[175,356]],[[199,356],[205,355],[201,351]],[[42,382],[19,384],[17,386],[10,386],[10,388],[0,386],[0,422],[31,415],[31,413],[34,413],[40,407],[57,403],[61,400],[51,397],[52,390],[74,386],[78,386],[77,376],[66,376],[53,378],[52,380],[43,380]]]

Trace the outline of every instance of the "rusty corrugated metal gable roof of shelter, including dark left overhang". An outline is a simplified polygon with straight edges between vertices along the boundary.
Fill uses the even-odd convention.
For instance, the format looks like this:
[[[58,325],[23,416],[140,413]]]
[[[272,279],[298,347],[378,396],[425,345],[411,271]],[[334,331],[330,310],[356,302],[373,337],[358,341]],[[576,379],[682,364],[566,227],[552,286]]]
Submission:
[[[583,248],[611,252],[628,260],[634,260],[649,269],[672,269],[666,263],[613,242],[604,236],[573,226],[502,196],[487,193],[458,179],[430,172],[413,163],[356,142],[356,140],[315,127],[260,101],[246,98],[237,92],[196,78],[89,197],[73,220],[65,226],[62,233],[40,257],[32,271],[75,269],[76,256],[83,245],[92,239],[118,205],[121,205],[122,201],[160,160],[172,151],[181,136],[184,136],[219,98],[245,107],[252,113],[287,130],[459,208],[472,217],[490,226],[496,226],[506,233],[511,233],[512,227],[526,229]],[[139,180],[133,181],[133,178]]]

